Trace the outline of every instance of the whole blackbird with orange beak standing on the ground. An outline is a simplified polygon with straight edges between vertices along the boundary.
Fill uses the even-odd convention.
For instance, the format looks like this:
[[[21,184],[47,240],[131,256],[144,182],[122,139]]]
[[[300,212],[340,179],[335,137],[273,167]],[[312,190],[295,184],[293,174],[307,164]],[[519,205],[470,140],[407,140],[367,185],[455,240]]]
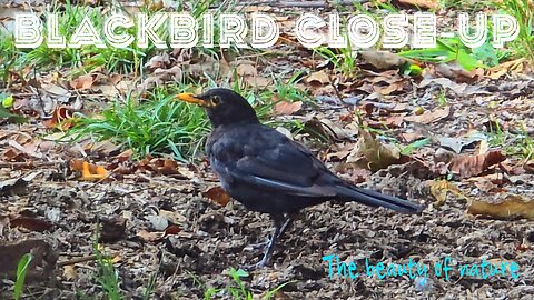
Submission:
[[[199,96],[176,97],[206,109],[214,128],[206,150],[226,192],[247,209],[269,213],[274,220],[275,232],[256,267],[267,263],[291,216],[306,207],[338,200],[403,213],[424,209],[338,178],[303,144],[261,124],[247,100],[231,90],[211,89]]]

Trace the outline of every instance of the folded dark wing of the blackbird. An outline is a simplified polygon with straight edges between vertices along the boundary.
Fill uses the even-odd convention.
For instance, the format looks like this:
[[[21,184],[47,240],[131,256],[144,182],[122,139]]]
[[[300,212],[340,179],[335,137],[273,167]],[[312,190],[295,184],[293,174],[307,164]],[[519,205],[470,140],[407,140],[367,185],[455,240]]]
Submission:
[[[215,163],[224,166],[224,172],[233,181],[289,196],[336,196],[333,187],[317,183],[318,178],[329,172],[306,148],[277,131],[259,132],[261,134],[253,133],[254,137],[240,144],[241,151],[236,151],[238,157],[228,158],[226,152],[226,162],[215,159]]]

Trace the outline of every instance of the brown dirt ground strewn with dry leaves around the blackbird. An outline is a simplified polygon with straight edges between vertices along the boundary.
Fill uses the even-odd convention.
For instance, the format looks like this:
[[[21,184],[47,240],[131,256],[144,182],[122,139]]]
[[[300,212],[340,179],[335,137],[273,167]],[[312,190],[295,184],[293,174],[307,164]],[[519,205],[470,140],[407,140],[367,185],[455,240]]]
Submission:
[[[332,66],[319,70],[317,66],[323,58],[293,46],[279,46],[264,61],[245,59],[246,66],[254,64],[258,76],[265,78],[271,74],[288,78],[296,70],[305,70],[304,83],[299,84],[310,92],[316,106],[305,106],[291,116],[276,118],[328,120],[332,131],[345,130],[348,134],[322,142],[309,134],[299,133],[295,138],[312,148],[338,176],[427,208],[421,216],[403,216],[356,203],[328,202],[303,211],[275,248],[270,263],[250,270],[248,277],[241,279],[254,292],[254,299],[260,299],[267,290],[280,284],[285,286],[275,299],[534,299],[532,218],[475,216],[467,211],[472,200],[466,200],[493,203],[508,194],[534,199],[532,158],[531,164],[523,163],[521,154],[508,156],[506,161],[492,166],[478,163],[484,167],[479,172],[468,170],[473,166],[462,167],[459,171],[469,173],[451,180],[457,186],[457,192],[449,191],[446,200],[436,201],[436,192],[431,191],[431,187],[444,178],[441,168],[447,167],[437,162],[441,151],[447,148],[444,137],[461,142],[468,132],[477,131],[487,138],[488,127],[494,123],[514,134],[522,133],[518,127],[522,123],[523,133],[534,137],[532,71],[525,68],[514,72],[512,68],[502,67],[493,73],[486,70],[484,76],[484,70],[475,74],[453,66],[446,69],[454,73],[452,80],[447,78],[452,83],[444,84],[446,76],[436,71],[437,67],[425,64],[428,69],[425,76],[436,81],[422,84],[422,78],[403,76],[397,69],[377,71],[364,61],[358,64],[357,77],[344,79]],[[180,63],[176,57],[172,63]],[[522,62],[514,66],[520,64],[523,66]],[[310,80],[325,70],[337,76],[335,82],[322,81],[317,76]],[[49,73],[42,76],[43,80],[50,77]],[[109,99],[102,100],[90,91],[81,96],[86,107],[98,102],[93,107],[101,108],[109,103]],[[446,103],[438,104],[438,97]],[[72,104],[72,99],[67,103]],[[447,113],[435,120],[431,116],[425,124],[414,124],[417,121],[407,118],[417,118],[414,112],[417,108],[423,109],[422,116],[436,117],[436,112],[445,110]],[[404,146],[413,141],[406,141],[407,134],[431,137],[432,142],[415,149],[409,162],[362,172],[346,161],[358,140],[354,127],[356,117],[347,120],[348,114],[350,118],[362,116],[368,128],[387,131]],[[6,157],[10,151],[10,140],[26,137],[30,144],[33,139],[52,132],[39,117],[32,117],[22,126],[0,121],[1,153]],[[97,224],[101,251],[117,268],[126,299],[142,299],[152,276],[156,283],[151,299],[204,299],[209,288],[237,286],[228,273],[230,268],[245,268],[259,261],[263,248],[251,244],[269,237],[271,221],[235,201],[221,206],[205,197],[208,188],[218,183],[202,157],[198,164],[179,163],[177,174],[141,170],[115,172],[102,182],[80,181],[70,170],[71,159],[113,166],[109,170],[135,169],[139,163],[131,160],[117,163],[117,157],[125,149],[96,148],[87,150],[80,144],[59,144],[43,139],[36,146],[38,150],[31,148],[36,152],[24,148],[22,152],[30,156],[28,161],[0,159],[0,299],[12,298],[13,280],[9,277],[14,274],[18,258],[26,252],[36,257],[27,279],[26,299],[83,299],[82,296],[100,299],[93,257]],[[473,157],[479,148],[477,140],[451,152],[448,142],[446,154]],[[42,156],[37,159],[39,154]],[[332,276],[329,256],[334,264]],[[448,278],[443,271],[445,260],[451,267]],[[366,264],[384,263],[387,271],[388,267],[411,261],[419,268],[426,267],[426,276],[367,274]],[[461,276],[462,266],[469,266],[469,272],[479,271],[473,264],[479,266],[483,261],[505,267],[500,269],[500,274],[485,279],[466,272]],[[338,266],[350,262],[356,266],[357,277],[338,273]],[[436,266],[442,266],[437,268],[439,276]],[[219,292],[214,299],[233,298]]]

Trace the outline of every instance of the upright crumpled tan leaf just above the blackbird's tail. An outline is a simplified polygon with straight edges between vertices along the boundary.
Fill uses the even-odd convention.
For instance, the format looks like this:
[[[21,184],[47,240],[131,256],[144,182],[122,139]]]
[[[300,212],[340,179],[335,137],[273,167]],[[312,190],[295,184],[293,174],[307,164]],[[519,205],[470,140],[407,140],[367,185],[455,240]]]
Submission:
[[[354,162],[363,168],[379,170],[402,162],[400,151],[383,144],[372,133],[359,129],[356,147],[350,151],[347,162]]]

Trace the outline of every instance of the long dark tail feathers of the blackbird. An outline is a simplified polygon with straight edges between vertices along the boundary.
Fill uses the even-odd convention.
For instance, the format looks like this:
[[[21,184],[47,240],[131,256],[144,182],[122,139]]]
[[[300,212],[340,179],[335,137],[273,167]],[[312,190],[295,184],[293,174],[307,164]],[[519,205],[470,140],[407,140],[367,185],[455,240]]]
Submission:
[[[425,209],[424,206],[368,189],[338,186],[336,191],[339,200],[359,202],[369,207],[384,207],[402,213],[421,213]]]

